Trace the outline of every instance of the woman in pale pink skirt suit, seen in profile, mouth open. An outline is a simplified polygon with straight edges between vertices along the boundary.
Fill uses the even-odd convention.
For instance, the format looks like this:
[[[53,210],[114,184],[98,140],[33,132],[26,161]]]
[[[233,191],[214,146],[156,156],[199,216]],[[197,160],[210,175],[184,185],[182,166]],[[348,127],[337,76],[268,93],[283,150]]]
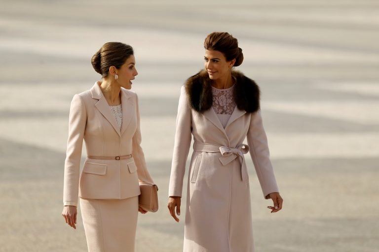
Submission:
[[[62,215],[76,229],[79,198],[89,252],[134,252],[138,212],[147,212],[138,206],[139,182],[154,182],[141,148],[138,97],[130,91],[138,74],[133,48],[105,43],[91,62],[102,81],[71,102]]]

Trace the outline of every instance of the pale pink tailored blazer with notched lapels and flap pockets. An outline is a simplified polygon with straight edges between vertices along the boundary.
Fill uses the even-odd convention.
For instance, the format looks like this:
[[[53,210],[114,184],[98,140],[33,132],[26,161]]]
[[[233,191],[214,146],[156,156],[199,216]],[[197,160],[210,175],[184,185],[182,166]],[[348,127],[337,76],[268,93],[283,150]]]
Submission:
[[[121,130],[105,99],[99,82],[75,95],[70,107],[69,137],[65,160],[63,202],[77,205],[78,196],[90,199],[124,199],[140,194],[139,180],[153,183],[141,148],[138,97],[121,88]],[[87,156],[80,174],[83,139]]]

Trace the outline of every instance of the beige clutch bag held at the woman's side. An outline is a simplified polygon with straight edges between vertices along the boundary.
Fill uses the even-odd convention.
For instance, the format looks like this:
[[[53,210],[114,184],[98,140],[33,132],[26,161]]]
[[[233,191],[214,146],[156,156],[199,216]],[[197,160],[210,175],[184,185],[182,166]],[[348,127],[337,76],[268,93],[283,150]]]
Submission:
[[[155,213],[158,211],[158,187],[145,182],[140,182],[141,194],[138,196],[138,206],[145,211]]]

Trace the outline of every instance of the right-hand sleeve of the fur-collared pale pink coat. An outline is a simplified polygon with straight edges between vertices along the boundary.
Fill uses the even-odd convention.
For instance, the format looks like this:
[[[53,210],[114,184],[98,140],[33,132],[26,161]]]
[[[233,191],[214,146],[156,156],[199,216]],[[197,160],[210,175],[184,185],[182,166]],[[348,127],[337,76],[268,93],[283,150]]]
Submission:
[[[265,199],[268,194],[279,192],[275,175],[270,161],[267,136],[263,127],[261,110],[251,114],[250,126],[247,133],[247,144],[250,147],[250,155],[253,159],[259,182]]]

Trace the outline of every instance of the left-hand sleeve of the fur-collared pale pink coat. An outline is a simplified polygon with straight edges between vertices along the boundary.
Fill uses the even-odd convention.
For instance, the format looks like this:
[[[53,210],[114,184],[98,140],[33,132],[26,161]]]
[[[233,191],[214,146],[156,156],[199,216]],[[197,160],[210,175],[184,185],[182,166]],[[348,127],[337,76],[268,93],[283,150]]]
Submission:
[[[176,118],[174,153],[168,196],[182,196],[186,161],[191,144],[191,122],[191,109],[188,104],[186,88],[183,86],[180,92],[178,115]]]

